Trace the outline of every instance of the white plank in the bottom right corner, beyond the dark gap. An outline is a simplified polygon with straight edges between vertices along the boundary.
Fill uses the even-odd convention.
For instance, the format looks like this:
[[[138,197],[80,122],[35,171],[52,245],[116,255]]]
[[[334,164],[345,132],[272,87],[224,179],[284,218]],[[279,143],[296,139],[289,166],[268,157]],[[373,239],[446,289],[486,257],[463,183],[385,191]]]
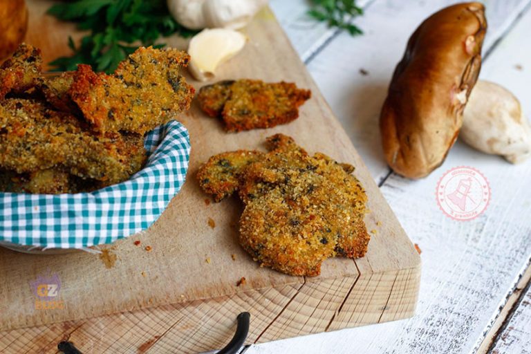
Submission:
[[[531,353],[531,288],[528,288],[490,353]]]

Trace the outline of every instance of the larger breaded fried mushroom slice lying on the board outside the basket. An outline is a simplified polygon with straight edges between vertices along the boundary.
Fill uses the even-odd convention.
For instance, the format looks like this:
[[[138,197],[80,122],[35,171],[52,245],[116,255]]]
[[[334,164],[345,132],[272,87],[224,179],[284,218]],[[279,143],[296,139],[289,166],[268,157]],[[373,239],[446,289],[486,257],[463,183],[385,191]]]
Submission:
[[[310,277],[319,275],[329,257],[363,257],[370,239],[363,221],[367,198],[350,174],[353,167],[322,153],[309,156],[281,134],[266,145],[268,153],[213,156],[198,174],[214,198],[220,191],[223,196],[239,192],[245,204],[239,236],[243,248],[261,265]],[[231,167],[221,167],[221,161]],[[215,178],[205,184],[205,176]]]

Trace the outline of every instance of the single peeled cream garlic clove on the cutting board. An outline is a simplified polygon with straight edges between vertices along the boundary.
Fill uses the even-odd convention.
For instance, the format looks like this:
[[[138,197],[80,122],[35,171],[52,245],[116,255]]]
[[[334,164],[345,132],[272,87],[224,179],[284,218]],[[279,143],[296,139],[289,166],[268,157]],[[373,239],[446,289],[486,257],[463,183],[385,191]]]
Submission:
[[[247,38],[235,30],[202,30],[192,38],[188,46],[190,73],[197,80],[212,79],[218,65],[236,55],[245,46],[245,41]]]

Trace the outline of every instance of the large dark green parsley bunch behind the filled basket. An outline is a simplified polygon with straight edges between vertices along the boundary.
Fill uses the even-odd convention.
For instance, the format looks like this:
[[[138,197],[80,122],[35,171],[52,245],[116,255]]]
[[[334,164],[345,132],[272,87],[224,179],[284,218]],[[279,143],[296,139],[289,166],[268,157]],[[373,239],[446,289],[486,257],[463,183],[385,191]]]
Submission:
[[[91,31],[78,46],[68,38],[73,54],[50,63],[57,71],[72,71],[83,63],[112,73],[139,43],[151,46],[159,37],[174,33],[189,37],[196,33],[171,17],[165,0],[76,0],[57,3],[48,9],[48,14],[76,22],[80,30]]]

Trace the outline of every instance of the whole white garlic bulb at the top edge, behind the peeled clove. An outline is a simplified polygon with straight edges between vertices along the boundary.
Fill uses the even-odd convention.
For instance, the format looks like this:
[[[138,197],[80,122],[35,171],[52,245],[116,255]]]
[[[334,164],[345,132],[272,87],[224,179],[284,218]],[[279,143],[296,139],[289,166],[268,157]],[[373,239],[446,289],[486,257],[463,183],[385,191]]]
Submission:
[[[267,0],[168,0],[176,21],[192,30],[247,26]]]

